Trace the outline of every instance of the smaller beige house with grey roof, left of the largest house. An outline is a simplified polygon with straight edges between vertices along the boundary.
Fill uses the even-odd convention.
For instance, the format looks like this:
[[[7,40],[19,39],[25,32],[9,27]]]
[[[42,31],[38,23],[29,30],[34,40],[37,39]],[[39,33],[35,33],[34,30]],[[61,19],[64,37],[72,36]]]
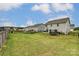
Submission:
[[[28,26],[25,28],[25,31],[29,31],[29,30],[34,30],[36,32],[43,32],[46,30],[45,25],[44,24],[35,24],[32,26]]]

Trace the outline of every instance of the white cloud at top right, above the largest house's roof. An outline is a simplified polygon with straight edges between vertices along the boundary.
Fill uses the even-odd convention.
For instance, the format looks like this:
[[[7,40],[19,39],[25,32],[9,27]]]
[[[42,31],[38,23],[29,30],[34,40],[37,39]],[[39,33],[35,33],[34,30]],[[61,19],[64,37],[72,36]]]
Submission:
[[[73,10],[74,6],[70,3],[53,3],[51,4],[54,11],[67,11],[67,10]]]

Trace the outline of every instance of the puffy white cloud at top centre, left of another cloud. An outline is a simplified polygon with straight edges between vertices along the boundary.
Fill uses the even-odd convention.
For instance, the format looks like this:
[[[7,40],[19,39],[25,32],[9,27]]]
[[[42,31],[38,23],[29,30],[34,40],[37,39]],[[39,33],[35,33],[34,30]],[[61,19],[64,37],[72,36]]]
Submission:
[[[42,11],[44,13],[50,13],[51,12],[49,4],[40,4],[40,5],[36,4],[32,7],[32,10],[33,11]]]

